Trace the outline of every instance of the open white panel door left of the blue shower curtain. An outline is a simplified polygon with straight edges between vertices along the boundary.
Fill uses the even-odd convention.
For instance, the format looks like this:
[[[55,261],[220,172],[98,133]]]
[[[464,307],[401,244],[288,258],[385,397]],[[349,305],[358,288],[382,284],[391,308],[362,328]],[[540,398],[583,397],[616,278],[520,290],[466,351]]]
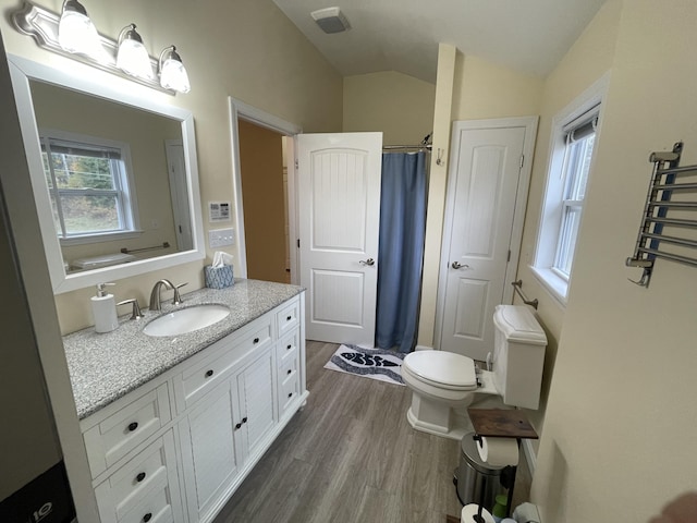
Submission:
[[[307,338],[372,346],[382,133],[302,134],[296,143]]]

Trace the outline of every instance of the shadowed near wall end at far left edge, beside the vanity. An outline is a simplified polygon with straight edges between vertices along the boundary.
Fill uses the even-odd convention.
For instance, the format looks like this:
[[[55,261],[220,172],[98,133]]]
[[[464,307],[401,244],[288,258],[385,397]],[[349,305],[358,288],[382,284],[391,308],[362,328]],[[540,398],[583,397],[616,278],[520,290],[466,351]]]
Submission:
[[[0,306],[3,317],[2,332],[9,343],[5,341],[3,344],[0,365],[2,368],[0,410],[3,419],[3,430],[0,436],[3,449],[1,470],[4,476],[0,482],[2,483],[0,499],[4,498],[2,492],[9,494],[8,488],[20,488],[33,475],[47,470],[60,455],[57,446],[48,441],[51,429],[46,425],[52,422],[51,414],[41,406],[44,391],[40,381],[44,374],[47,389],[50,391],[50,410],[69,471],[73,498],[76,506],[86,509],[78,512],[78,518],[81,521],[97,521],[97,506],[91,494],[91,475],[86,452],[81,445],[82,434],[68,375],[56,304],[51,300],[48,266],[46,257],[37,254],[42,252],[42,243],[36,205],[33,199],[25,198],[26,194],[32,194],[32,184],[1,42],[0,61],[2,62],[0,63],[0,99],[3,107],[3,118],[0,118],[0,136],[2,136],[0,143],[2,190],[0,192],[11,226],[11,231],[8,231],[11,236],[7,239],[13,240],[16,255],[16,260],[10,262],[3,258],[5,262],[1,264],[5,275],[4,281],[8,283],[2,288]],[[4,231],[1,234],[5,236]],[[0,246],[0,253],[10,254],[8,244]],[[12,277],[7,275],[7,271],[13,271],[10,265],[14,263],[16,263],[17,278],[22,279],[21,287],[24,288],[23,292],[19,293],[13,291],[10,281]],[[8,320],[10,323],[7,323]],[[30,326],[27,320],[30,320]],[[10,346],[5,348],[8,344]],[[36,348],[38,348],[40,367],[36,357]],[[26,379],[17,381],[17,378],[23,377]],[[22,387],[22,382],[25,387],[32,384],[32,390],[17,389]],[[5,389],[5,387],[9,388]],[[44,406],[46,404],[45,401]],[[17,406],[26,406],[27,410],[17,411]],[[36,434],[16,435],[7,429],[5,424],[11,426],[15,417],[22,427]],[[8,449],[11,450],[8,451]],[[19,462],[22,463],[21,466],[16,465]]]

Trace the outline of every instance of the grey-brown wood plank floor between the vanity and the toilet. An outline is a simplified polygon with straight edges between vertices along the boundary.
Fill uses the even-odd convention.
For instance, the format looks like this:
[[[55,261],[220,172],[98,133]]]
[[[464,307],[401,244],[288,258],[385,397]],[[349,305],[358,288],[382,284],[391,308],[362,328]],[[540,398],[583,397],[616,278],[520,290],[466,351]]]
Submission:
[[[322,368],[337,348],[307,342],[307,405],[213,523],[443,523],[460,514],[460,443],[409,426],[406,387]],[[529,491],[521,483],[516,499]]]

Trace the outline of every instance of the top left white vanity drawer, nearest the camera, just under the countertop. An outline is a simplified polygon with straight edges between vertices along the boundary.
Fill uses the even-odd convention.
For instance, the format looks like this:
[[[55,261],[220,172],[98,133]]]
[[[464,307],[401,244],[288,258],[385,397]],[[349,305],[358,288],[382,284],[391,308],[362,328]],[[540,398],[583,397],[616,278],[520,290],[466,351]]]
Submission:
[[[167,384],[111,414],[83,437],[91,477],[97,477],[171,419]]]

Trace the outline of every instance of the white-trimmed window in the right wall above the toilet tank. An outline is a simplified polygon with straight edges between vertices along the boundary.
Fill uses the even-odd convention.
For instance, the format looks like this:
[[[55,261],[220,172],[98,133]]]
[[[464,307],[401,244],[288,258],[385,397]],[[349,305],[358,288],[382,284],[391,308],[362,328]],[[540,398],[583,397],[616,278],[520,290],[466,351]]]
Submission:
[[[607,80],[601,78],[552,122],[547,187],[530,268],[561,303],[566,303],[572,278],[606,89]]]

